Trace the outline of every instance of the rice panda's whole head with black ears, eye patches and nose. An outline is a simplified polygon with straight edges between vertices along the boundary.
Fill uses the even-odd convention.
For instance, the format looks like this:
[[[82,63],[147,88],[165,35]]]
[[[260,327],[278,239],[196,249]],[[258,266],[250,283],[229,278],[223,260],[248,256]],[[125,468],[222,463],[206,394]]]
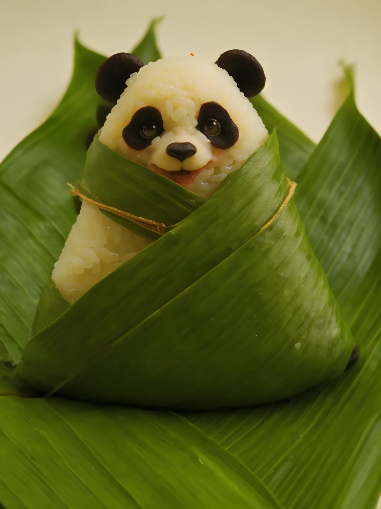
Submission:
[[[116,102],[100,141],[209,197],[268,135],[247,99],[264,84],[259,62],[241,50],[226,51],[215,64],[187,55],[146,66],[117,53],[96,78],[97,92]]]

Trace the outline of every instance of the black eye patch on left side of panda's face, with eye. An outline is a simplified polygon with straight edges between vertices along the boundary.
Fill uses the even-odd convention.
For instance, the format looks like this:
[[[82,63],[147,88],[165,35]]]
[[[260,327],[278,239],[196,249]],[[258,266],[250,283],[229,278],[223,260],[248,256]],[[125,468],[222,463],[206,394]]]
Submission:
[[[153,106],[144,106],[133,115],[122,132],[125,143],[134,150],[143,150],[151,145],[156,136],[164,131],[160,111]]]

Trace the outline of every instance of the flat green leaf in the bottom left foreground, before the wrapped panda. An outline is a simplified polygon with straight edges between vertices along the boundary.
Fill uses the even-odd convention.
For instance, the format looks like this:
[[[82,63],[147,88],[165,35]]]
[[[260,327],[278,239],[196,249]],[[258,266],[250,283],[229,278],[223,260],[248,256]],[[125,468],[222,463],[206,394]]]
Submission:
[[[172,412],[0,398],[7,509],[281,509],[238,460]]]

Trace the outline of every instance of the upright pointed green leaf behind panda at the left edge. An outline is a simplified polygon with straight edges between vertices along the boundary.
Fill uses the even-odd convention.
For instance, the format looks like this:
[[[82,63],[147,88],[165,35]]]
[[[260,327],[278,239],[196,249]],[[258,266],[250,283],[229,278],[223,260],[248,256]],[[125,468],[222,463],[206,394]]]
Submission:
[[[80,179],[96,123],[94,76],[104,57],[75,43],[70,87],[52,116],[0,165],[0,340],[17,362],[41,289],[75,220],[66,182]]]

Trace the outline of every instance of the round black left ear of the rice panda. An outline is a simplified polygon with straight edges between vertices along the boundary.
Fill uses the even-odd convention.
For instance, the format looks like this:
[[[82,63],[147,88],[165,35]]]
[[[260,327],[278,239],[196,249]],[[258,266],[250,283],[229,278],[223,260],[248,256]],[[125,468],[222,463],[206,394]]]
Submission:
[[[116,102],[125,89],[125,82],[144,63],[132,53],[115,53],[99,66],[96,76],[96,91],[108,102]]]

